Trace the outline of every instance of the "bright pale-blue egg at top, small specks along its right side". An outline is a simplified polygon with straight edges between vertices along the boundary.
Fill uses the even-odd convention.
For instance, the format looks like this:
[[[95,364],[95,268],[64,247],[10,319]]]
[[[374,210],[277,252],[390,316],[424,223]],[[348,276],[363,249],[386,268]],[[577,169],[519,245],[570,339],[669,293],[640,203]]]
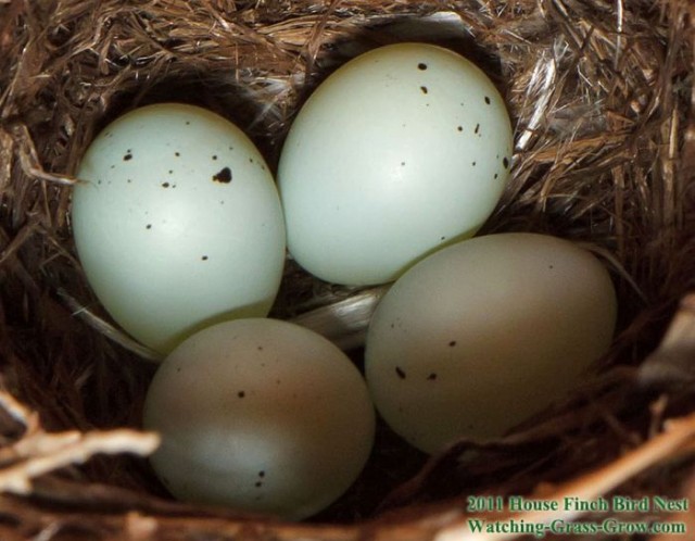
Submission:
[[[392,281],[481,227],[511,151],[505,102],[473,63],[427,43],[371,50],[314,91],[282,147],[289,251],[330,282]]]

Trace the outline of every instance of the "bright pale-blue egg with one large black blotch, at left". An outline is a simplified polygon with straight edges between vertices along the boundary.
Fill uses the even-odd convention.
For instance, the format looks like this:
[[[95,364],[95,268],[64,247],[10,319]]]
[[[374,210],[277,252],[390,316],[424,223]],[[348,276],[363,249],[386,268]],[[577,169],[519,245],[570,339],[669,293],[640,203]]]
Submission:
[[[264,316],[285,262],[274,178],[252,141],[199,106],[136,109],[93,140],[72,226],[94,293],[161,353],[215,322]]]

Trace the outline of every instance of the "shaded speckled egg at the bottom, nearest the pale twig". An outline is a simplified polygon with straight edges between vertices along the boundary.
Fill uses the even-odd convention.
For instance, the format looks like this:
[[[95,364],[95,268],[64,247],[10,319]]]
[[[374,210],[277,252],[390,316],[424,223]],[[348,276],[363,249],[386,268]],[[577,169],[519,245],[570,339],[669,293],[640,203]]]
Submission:
[[[152,465],[185,501],[287,519],[314,515],[357,478],[374,442],[365,381],[327,339],[264,318],[184,341],[149,388]]]

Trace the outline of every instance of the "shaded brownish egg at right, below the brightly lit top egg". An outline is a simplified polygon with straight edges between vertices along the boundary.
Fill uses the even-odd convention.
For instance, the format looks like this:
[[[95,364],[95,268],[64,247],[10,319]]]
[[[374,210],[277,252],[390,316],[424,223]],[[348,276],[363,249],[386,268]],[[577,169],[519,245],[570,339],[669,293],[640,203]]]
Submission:
[[[617,300],[589,251],[509,232],[405,273],[369,324],[365,370],[386,422],[432,453],[496,438],[560,400],[609,347]]]

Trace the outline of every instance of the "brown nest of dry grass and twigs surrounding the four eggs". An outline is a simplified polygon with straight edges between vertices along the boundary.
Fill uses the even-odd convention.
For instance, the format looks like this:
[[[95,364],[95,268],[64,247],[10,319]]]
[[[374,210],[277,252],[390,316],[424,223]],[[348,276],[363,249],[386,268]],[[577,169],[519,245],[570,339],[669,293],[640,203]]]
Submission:
[[[471,498],[695,494],[692,17],[675,0],[0,0],[0,538],[486,539],[471,514],[601,523],[615,509],[491,514]],[[590,383],[500,440],[426,457],[380,426],[362,477],[307,523],[173,502],[144,458],[155,441],[138,430],[154,365],[110,323],[76,260],[81,153],[121,113],[174,100],[237,123],[275,168],[320,80],[413,40],[463,53],[497,84],[515,155],[482,232],[547,232],[597,254],[619,295],[610,351]],[[290,261],[273,315],[359,293]],[[692,525],[683,508],[629,516]]]

